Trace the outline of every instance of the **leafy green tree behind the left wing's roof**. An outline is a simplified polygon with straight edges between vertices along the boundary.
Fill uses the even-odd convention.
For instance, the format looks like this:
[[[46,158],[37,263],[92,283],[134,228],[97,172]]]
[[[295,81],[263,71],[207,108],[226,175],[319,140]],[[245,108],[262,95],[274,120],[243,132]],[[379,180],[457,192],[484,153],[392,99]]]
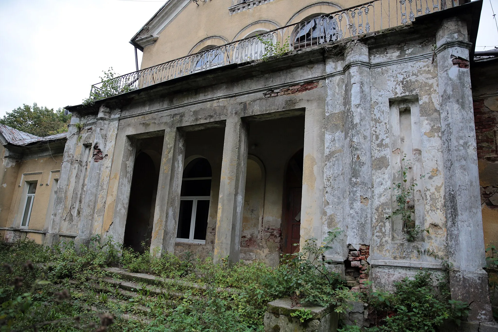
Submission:
[[[22,107],[7,112],[0,119],[1,124],[8,125],[36,136],[45,137],[67,131],[67,125],[71,114],[64,115],[63,109],[48,109],[39,107],[36,103],[33,107],[23,104]]]

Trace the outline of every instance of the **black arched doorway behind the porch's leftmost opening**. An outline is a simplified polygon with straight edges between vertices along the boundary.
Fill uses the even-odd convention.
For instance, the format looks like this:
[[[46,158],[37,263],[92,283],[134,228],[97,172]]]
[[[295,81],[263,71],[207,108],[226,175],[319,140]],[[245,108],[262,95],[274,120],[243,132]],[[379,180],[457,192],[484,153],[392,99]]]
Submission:
[[[152,158],[145,152],[139,152],[131,178],[123,241],[125,247],[131,247],[138,252],[144,252],[145,248],[150,246],[158,179],[159,174]]]

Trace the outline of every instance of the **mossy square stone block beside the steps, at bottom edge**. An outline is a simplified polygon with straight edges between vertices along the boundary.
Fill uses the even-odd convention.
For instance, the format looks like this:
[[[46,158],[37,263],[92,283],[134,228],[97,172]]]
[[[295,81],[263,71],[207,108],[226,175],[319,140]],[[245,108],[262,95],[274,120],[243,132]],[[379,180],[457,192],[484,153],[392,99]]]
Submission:
[[[310,310],[312,318],[301,323],[290,314],[299,310]],[[264,313],[265,332],[336,332],[339,314],[333,307],[302,305],[292,306],[290,299],[278,299],[268,303]]]

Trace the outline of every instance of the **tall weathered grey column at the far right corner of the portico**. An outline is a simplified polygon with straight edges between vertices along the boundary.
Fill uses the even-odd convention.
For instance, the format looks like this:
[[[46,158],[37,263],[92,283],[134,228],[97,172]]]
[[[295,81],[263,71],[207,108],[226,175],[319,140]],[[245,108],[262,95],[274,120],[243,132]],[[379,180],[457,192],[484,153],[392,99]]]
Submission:
[[[436,45],[451,294],[471,304],[469,321],[488,322],[493,317],[488,276],[482,269],[486,262],[470,89],[472,44],[466,23],[445,19]]]

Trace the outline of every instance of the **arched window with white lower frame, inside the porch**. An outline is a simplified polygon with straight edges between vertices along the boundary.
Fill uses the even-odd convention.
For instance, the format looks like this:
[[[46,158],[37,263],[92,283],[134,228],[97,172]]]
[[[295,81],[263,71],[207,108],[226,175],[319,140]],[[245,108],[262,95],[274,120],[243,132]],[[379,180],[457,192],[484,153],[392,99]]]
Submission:
[[[205,158],[192,160],[183,170],[178,242],[206,243],[211,177],[211,165]]]

